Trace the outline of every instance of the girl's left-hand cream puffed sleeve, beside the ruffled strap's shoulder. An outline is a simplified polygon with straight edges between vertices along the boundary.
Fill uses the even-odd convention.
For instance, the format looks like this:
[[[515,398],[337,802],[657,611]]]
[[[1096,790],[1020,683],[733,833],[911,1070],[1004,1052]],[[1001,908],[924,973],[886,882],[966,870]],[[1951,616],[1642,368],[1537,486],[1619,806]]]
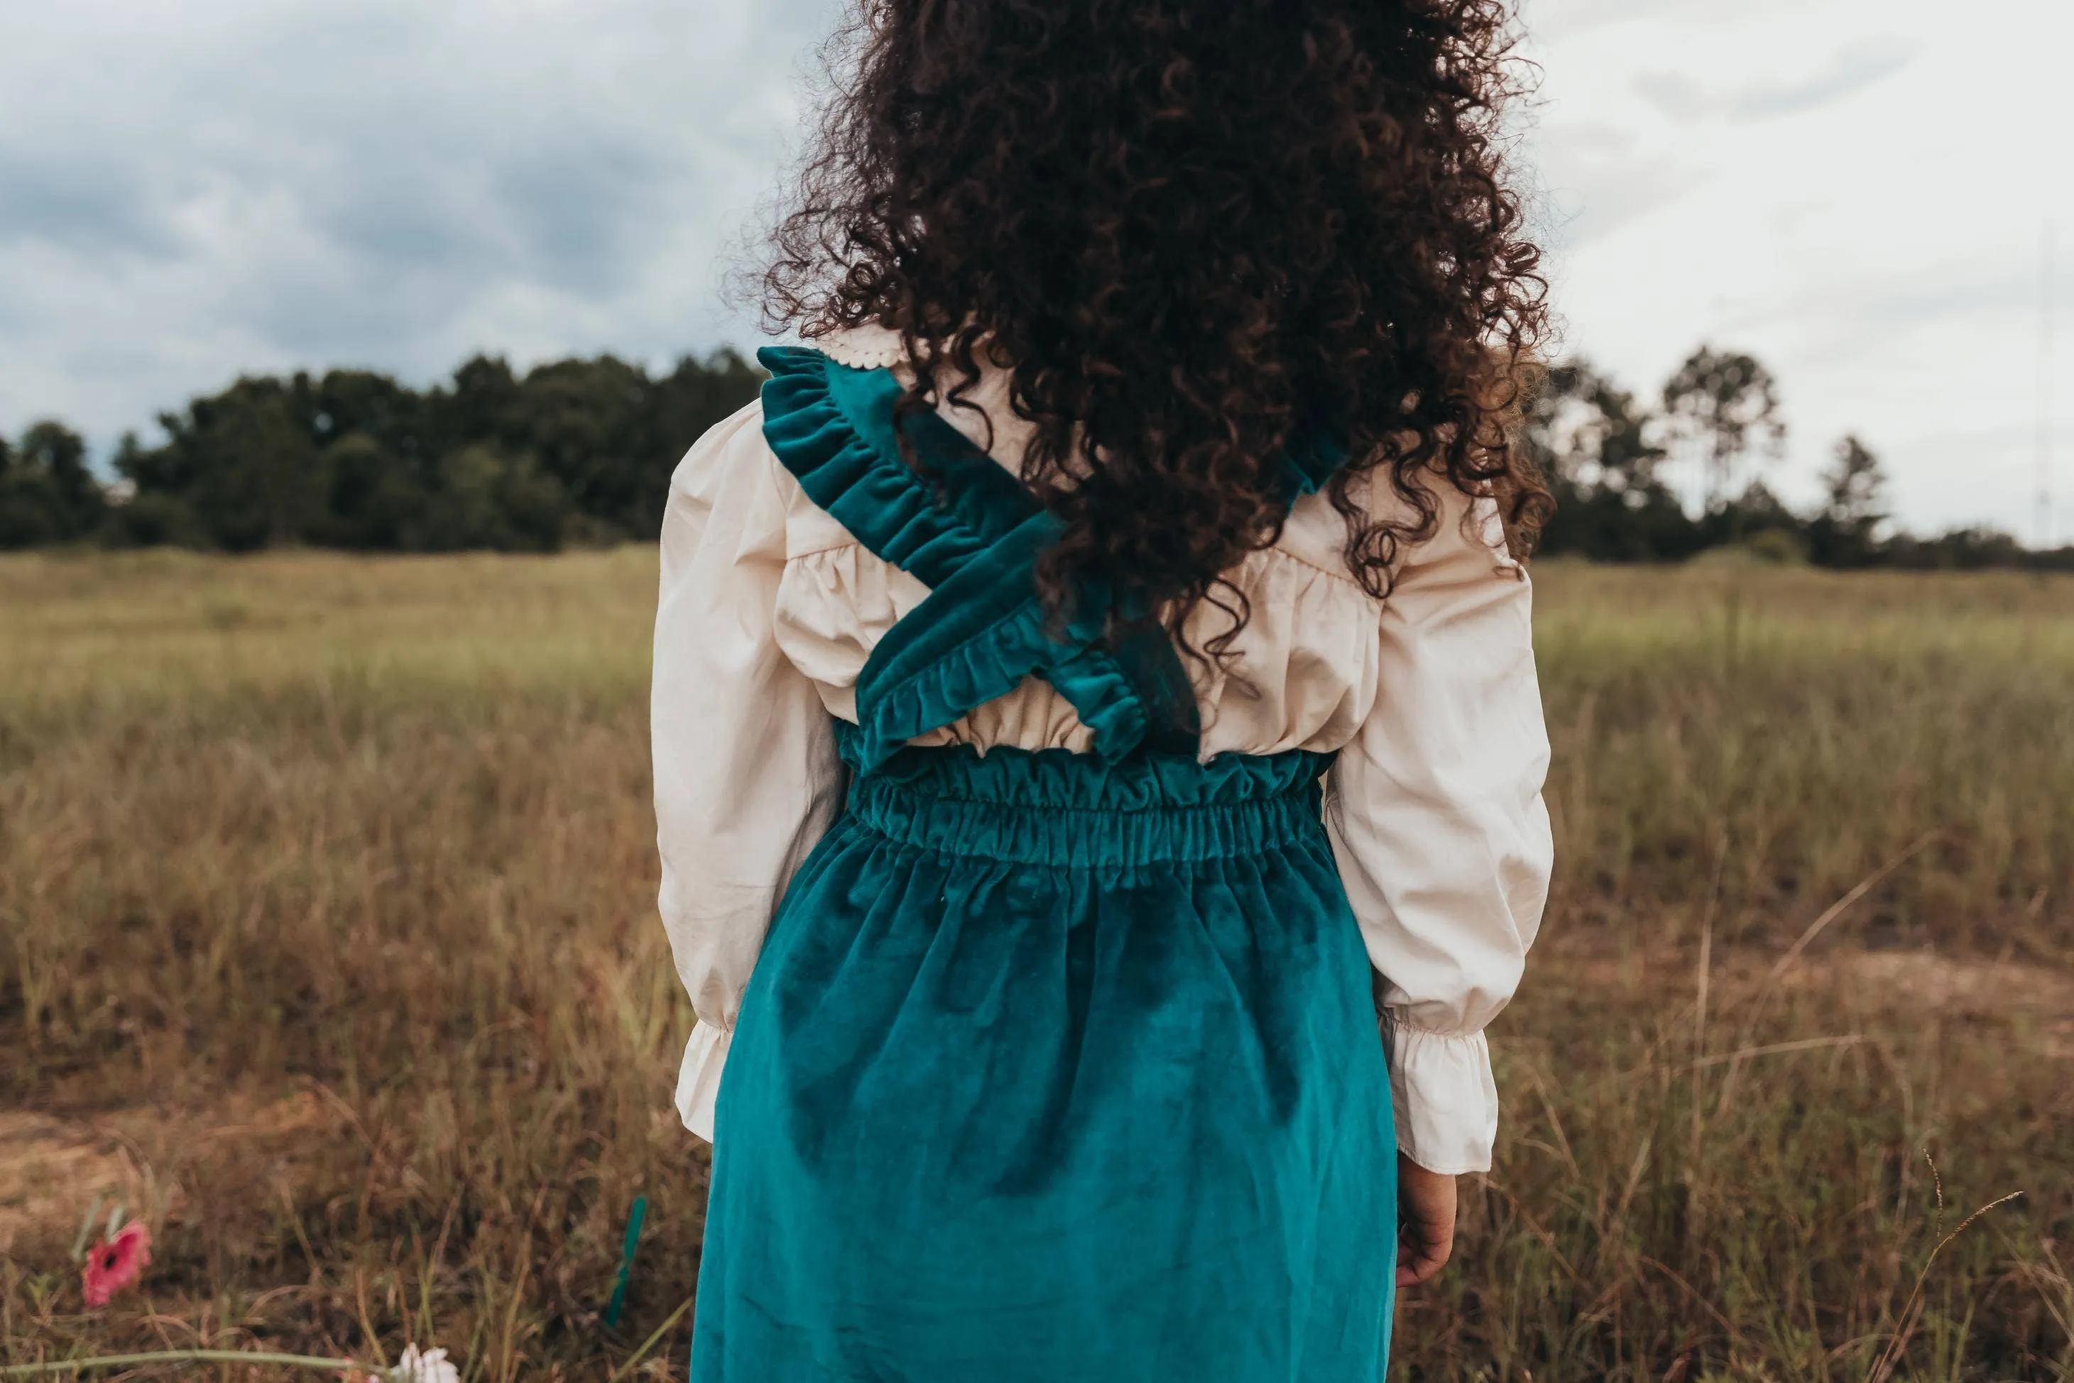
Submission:
[[[772,910],[842,798],[834,724],[774,637],[784,498],[761,421],[751,404],[701,438],[662,520],[655,840],[662,921],[699,1016],[676,1107],[701,1138]]]

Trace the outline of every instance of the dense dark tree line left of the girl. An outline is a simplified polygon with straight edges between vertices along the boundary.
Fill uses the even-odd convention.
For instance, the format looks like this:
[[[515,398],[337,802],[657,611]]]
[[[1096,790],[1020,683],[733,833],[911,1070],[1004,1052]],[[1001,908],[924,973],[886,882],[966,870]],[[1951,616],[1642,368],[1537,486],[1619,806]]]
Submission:
[[[44,421],[0,440],[0,547],[554,552],[653,539],[676,458],[761,379],[732,350],[662,377],[614,357],[523,375],[477,357],[429,390],[361,369],[243,377],[162,413],[162,444],[122,438],[112,483],[75,431]]]

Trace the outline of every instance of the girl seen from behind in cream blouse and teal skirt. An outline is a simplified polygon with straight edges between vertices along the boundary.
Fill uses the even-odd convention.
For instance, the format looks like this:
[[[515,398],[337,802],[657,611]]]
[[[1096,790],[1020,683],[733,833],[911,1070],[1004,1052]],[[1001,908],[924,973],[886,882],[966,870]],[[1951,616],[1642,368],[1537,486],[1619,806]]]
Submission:
[[[1371,1383],[1549,871],[1502,0],[848,37],[662,533],[693,1379]]]

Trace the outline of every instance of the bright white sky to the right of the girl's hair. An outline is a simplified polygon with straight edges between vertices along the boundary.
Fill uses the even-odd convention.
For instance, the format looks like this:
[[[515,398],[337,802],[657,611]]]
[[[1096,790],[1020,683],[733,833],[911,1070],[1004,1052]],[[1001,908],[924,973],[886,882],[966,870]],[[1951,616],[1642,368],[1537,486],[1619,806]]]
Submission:
[[[1701,340],[1753,350],[1794,427],[1784,491],[1811,493],[1856,431],[1906,523],[2030,537],[2039,241],[2047,222],[2074,232],[2057,95],[2074,10],[1954,15],[1529,0],[1531,149],[1568,348],[1643,392]],[[2059,255],[2062,284],[2070,270]],[[2074,396],[2074,350],[2055,373]],[[2068,539],[2074,454],[2059,471]]]

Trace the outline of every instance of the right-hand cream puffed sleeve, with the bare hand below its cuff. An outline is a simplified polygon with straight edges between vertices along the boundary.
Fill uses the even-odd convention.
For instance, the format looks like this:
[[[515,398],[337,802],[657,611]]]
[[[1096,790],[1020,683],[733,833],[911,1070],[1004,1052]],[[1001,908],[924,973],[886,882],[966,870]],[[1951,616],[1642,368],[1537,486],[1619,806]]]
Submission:
[[[1375,709],[1340,751],[1327,827],[1377,972],[1398,1147],[1487,1172],[1497,1086],[1483,1028],[1520,983],[1553,842],[1533,587],[1497,516],[1450,498],[1381,608]]]

